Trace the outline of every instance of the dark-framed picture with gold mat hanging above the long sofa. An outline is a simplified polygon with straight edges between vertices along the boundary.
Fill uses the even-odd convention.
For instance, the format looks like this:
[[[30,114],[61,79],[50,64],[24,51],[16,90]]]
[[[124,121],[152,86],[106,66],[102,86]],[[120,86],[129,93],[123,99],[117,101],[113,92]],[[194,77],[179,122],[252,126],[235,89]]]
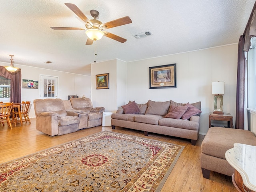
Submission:
[[[176,63],[150,67],[149,88],[176,88]]]

